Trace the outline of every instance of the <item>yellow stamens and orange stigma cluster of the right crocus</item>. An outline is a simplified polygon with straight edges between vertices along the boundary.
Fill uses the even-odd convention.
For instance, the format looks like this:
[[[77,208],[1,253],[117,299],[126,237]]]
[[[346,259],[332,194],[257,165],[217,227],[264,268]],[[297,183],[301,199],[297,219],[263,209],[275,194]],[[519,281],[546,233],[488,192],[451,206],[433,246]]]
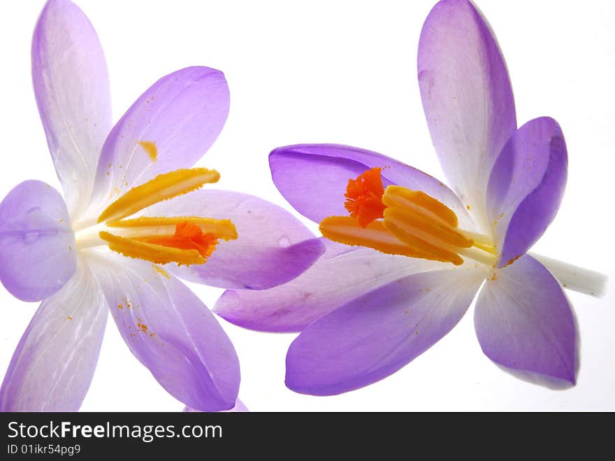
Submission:
[[[425,192],[398,185],[385,190],[379,168],[350,179],[345,198],[350,215],[329,216],[320,223],[327,239],[456,265],[463,264],[461,255],[495,263],[489,236],[459,229],[454,211]]]

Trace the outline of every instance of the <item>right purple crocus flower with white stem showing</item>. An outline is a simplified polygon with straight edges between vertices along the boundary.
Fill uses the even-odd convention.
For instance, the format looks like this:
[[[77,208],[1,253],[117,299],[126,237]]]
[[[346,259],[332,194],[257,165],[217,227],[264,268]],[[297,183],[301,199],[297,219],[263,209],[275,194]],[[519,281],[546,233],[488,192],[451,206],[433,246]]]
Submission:
[[[546,117],[517,128],[504,59],[470,1],[433,8],[418,71],[435,150],[455,192],[368,150],[278,148],[270,155],[275,185],[321,222],[326,253],[280,287],[225,292],[215,311],[247,328],[301,331],[288,351],[287,386],[334,395],[424,353],[479,292],[475,327],[493,362],[549,387],[574,385],[579,337],[560,283],[598,295],[604,278],[527,253],[562,199],[562,131]]]

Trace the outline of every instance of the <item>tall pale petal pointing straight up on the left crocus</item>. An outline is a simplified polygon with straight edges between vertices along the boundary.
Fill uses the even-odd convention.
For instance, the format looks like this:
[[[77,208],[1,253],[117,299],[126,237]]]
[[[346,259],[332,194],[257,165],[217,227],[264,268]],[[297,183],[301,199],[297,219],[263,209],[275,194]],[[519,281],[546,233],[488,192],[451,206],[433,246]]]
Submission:
[[[111,129],[105,55],[96,31],[68,0],[43,8],[32,43],[34,95],[73,217],[84,211]]]

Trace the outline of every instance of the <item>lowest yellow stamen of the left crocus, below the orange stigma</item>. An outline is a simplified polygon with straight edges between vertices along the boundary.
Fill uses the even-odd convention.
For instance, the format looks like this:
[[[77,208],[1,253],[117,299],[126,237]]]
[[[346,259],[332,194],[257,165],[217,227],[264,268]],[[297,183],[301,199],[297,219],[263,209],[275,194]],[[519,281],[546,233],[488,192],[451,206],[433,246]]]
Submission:
[[[109,243],[109,248],[116,253],[139,260],[153,262],[154,264],[203,264],[205,257],[197,250],[182,250],[168,246],[156,245],[134,239],[126,239],[109,232],[100,232],[99,236]]]

